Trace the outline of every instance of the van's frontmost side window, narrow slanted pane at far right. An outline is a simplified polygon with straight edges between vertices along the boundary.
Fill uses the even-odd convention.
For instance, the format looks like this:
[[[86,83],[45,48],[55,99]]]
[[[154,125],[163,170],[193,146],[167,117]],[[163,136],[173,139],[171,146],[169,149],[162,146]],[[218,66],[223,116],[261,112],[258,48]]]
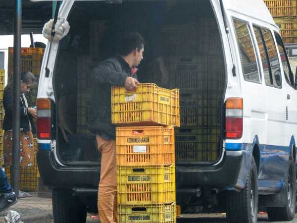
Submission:
[[[293,73],[290,67],[290,62],[288,60],[288,56],[287,56],[287,52],[285,50],[282,38],[280,37],[279,34],[274,33],[275,39],[276,39],[276,44],[277,44],[277,48],[280,52],[280,56],[281,56],[281,61],[283,64],[283,70],[284,70],[284,74],[285,74],[285,78],[288,84],[290,84],[292,87],[294,86],[294,77],[293,77]]]

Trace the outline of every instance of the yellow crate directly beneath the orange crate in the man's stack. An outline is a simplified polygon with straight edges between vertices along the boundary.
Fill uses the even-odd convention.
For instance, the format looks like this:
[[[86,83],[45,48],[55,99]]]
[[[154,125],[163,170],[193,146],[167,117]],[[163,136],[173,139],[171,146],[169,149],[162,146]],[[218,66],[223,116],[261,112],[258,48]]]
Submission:
[[[175,202],[175,165],[117,167],[118,204]]]

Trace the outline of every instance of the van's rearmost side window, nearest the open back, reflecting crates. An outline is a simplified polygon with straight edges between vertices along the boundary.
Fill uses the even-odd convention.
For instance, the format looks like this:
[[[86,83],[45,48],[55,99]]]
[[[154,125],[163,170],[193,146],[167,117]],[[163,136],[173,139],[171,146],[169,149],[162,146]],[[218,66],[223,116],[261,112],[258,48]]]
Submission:
[[[246,81],[261,82],[255,49],[251,40],[247,23],[233,19],[237,43],[239,47],[242,70]]]

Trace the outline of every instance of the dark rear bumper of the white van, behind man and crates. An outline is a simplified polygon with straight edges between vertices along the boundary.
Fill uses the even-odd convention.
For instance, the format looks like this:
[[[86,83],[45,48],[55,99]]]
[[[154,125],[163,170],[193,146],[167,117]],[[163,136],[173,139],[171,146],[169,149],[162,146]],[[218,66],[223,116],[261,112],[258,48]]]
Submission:
[[[250,156],[247,151],[226,151],[224,160],[218,166],[177,166],[177,194],[184,189],[203,186],[222,189],[244,188],[250,167]],[[99,166],[60,166],[55,162],[51,151],[39,151],[37,160],[43,182],[47,186],[98,188]]]

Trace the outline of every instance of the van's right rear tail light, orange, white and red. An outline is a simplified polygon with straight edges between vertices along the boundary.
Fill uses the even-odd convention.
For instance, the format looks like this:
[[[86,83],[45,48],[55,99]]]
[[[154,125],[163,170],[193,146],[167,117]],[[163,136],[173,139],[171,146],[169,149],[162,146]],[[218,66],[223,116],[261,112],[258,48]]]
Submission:
[[[243,136],[243,99],[229,98],[226,102],[226,139],[240,139]]]

